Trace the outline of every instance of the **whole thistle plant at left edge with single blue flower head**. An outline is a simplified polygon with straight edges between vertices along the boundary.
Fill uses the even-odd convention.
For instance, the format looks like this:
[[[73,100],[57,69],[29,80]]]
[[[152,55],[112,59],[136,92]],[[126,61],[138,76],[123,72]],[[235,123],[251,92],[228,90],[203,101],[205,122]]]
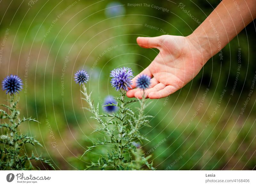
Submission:
[[[27,143],[43,146],[34,137],[21,133],[19,129],[20,124],[25,121],[38,122],[31,118],[20,119],[18,100],[15,100],[14,96],[22,89],[21,79],[17,75],[7,76],[2,86],[6,94],[10,94],[10,99],[7,100],[8,105],[1,104],[5,110],[0,109],[0,170],[35,169],[30,162],[32,159],[42,161],[54,169],[49,160],[37,157],[33,152],[29,156],[24,151],[24,145]]]

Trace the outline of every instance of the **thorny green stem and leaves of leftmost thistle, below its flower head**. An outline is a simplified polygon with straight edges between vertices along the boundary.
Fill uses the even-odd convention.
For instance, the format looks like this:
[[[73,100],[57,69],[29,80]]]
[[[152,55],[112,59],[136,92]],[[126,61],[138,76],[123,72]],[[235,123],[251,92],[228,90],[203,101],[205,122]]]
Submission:
[[[35,156],[32,152],[31,157],[28,157],[26,151],[23,149],[23,145],[30,143],[35,146],[38,144],[42,147],[42,145],[34,138],[28,135],[22,134],[18,127],[21,123],[25,121],[33,121],[38,122],[35,119],[24,118],[20,120],[19,115],[20,112],[17,110],[16,105],[18,101],[14,101],[14,96],[11,95],[11,99],[8,100],[10,106],[1,105],[8,109],[8,113],[4,110],[0,109],[2,112],[0,119],[4,120],[7,119],[8,123],[1,121],[0,128],[4,135],[0,136],[0,145],[1,147],[4,146],[4,149],[0,148],[0,169],[1,170],[31,170],[35,169],[32,163],[30,162],[31,159],[35,159],[36,161],[41,161],[52,169],[54,169],[53,165],[49,160],[43,159],[42,156]],[[39,122],[38,122],[39,123]],[[23,154],[23,155],[21,155]]]

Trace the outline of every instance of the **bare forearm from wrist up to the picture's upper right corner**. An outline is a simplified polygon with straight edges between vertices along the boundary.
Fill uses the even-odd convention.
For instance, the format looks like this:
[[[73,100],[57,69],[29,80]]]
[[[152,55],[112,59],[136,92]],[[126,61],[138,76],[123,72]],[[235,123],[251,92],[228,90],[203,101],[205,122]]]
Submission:
[[[255,18],[256,0],[223,0],[188,38],[206,63]]]

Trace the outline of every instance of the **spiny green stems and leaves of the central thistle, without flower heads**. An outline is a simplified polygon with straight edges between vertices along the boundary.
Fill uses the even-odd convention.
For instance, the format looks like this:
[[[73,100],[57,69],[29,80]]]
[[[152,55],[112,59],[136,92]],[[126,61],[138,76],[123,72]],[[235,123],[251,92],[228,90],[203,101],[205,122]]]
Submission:
[[[139,170],[143,166],[148,167],[150,170],[155,170],[153,162],[149,163],[148,159],[151,156],[145,157],[143,151],[140,148],[136,148],[134,144],[137,141],[142,143],[143,140],[149,141],[142,136],[139,129],[142,126],[149,126],[148,117],[144,114],[144,109],[147,107],[145,104],[145,98],[142,100],[126,101],[124,99],[125,92],[120,91],[120,97],[116,97],[117,104],[108,104],[105,106],[118,106],[119,111],[111,114],[99,113],[99,103],[97,107],[94,107],[91,99],[92,92],[88,95],[86,87],[83,85],[84,91],[82,91],[85,100],[88,104],[88,108],[84,108],[92,112],[92,119],[96,120],[100,124],[100,128],[95,129],[93,132],[102,131],[106,136],[97,142],[93,142],[92,146],[84,152],[86,155],[92,149],[105,144],[112,145],[111,151],[107,155],[100,155],[98,161],[91,162],[91,166],[87,166],[86,169],[91,167],[99,167],[101,170],[116,169],[116,170]],[[138,101],[140,103],[139,113],[136,115],[129,107],[130,103]],[[104,158],[106,157],[106,158]]]

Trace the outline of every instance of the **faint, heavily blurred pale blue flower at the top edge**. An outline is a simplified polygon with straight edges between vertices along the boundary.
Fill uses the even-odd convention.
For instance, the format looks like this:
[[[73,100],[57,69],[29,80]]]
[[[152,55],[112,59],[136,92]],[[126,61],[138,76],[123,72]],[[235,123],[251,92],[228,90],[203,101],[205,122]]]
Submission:
[[[107,17],[116,17],[119,15],[124,15],[124,13],[124,5],[119,2],[112,2],[106,6],[105,14]]]

